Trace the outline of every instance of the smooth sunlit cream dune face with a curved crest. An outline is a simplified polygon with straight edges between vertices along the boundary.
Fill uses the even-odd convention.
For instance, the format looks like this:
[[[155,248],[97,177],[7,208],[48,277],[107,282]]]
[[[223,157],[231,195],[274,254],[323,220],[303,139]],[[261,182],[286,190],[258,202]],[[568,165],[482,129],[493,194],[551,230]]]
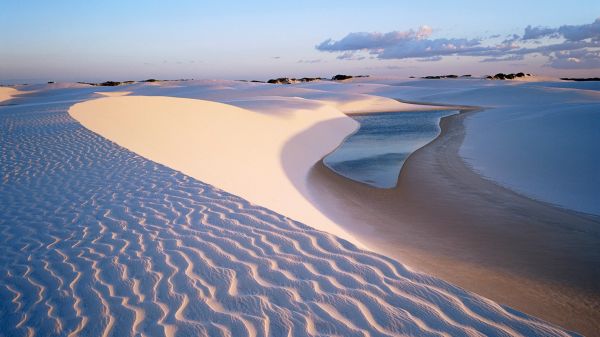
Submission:
[[[340,108],[416,106],[368,95],[350,102],[267,96],[231,103],[252,110],[197,99],[128,96],[87,101],[69,112],[135,153],[360,245],[307,200],[308,172],[358,127]],[[288,141],[323,122],[329,127],[295,146],[283,162]]]

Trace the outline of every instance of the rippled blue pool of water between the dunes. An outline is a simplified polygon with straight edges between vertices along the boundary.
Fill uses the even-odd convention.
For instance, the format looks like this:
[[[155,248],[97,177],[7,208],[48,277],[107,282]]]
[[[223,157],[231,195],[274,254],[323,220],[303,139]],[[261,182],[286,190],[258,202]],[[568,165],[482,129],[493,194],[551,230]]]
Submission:
[[[440,133],[442,117],[458,111],[386,112],[353,116],[360,129],[323,160],[346,178],[393,188],[408,156]]]

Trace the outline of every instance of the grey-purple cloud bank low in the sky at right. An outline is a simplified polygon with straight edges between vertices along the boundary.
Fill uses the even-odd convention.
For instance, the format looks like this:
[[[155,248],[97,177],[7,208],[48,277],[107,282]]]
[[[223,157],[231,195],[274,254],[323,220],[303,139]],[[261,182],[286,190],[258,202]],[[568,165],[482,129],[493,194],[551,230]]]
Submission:
[[[522,35],[497,41],[489,38],[432,38],[428,26],[389,33],[349,33],[340,40],[327,39],[316,46],[323,52],[339,53],[342,60],[357,60],[365,54],[378,59],[416,59],[435,62],[445,56],[478,57],[480,62],[522,60],[527,55],[546,56],[547,66],[558,69],[600,67],[600,18],[590,24],[560,27],[527,26]]]

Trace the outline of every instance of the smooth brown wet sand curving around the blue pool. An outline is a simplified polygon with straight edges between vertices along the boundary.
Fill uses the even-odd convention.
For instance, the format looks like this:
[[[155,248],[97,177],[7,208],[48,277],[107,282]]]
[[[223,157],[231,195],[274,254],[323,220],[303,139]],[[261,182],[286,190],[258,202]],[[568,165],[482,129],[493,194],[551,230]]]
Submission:
[[[396,188],[356,183],[320,162],[309,197],[371,249],[415,270],[599,335],[600,218],[532,200],[473,172],[458,150],[463,120],[477,112],[461,108],[409,157]]]

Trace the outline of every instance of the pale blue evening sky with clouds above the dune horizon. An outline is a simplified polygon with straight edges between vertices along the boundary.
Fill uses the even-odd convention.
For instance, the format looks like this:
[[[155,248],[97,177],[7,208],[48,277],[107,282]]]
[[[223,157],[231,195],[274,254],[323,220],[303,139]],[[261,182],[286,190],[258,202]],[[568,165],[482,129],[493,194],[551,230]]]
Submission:
[[[600,1],[0,0],[0,83],[600,76]]]

